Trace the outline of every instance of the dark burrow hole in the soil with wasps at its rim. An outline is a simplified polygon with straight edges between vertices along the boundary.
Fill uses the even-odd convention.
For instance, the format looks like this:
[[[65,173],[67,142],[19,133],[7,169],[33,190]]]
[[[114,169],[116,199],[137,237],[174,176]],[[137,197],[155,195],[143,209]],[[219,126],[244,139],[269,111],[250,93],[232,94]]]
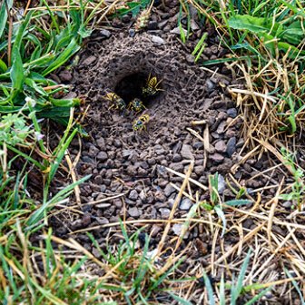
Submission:
[[[143,94],[143,87],[147,85],[148,79],[153,76],[156,76],[158,81],[161,79],[157,75],[144,72],[128,74],[115,85],[114,93],[122,97],[127,104],[133,101],[134,98],[138,98],[146,108],[149,108],[162,93],[162,91],[159,91],[152,96]],[[162,89],[162,82],[158,84],[158,88]]]

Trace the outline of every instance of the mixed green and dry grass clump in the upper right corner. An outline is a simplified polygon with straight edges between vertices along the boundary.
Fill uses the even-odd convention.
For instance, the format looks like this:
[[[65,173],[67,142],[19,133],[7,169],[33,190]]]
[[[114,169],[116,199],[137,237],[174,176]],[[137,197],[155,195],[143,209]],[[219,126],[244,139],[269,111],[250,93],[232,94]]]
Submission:
[[[302,5],[187,0],[182,6],[188,4],[196,7],[202,23],[215,25],[221,43],[232,52],[228,58],[202,64],[231,63],[243,75],[247,90],[229,90],[244,117],[246,144],[254,147],[257,139],[289,142],[291,133],[301,134],[305,117]]]

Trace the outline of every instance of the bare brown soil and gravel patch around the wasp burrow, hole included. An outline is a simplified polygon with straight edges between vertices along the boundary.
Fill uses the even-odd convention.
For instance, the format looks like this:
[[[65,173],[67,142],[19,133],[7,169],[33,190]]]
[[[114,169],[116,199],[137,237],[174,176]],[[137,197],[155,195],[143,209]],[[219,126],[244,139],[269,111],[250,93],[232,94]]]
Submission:
[[[190,40],[182,44],[177,28],[178,5],[170,6],[167,11],[154,9],[153,12],[148,30],[143,33],[133,32],[131,16],[124,17],[123,22],[114,20],[109,30],[95,31],[73,73],[63,70],[57,74],[61,82],[73,85],[75,95],[84,97],[83,125],[89,136],[82,139],[82,145],[75,139],[70,153],[74,159],[81,151],[75,169],[78,178],[91,175],[80,188],[84,204],[82,214],[72,212],[67,217],[52,217],[51,223],[58,236],[68,236],[68,233],[82,229],[91,231],[90,228],[100,226],[92,232],[104,248],[113,234],[111,228],[103,227],[104,224],[119,219],[167,220],[178,194],[173,185],[180,188],[183,181],[168,168],[183,173],[190,160],[194,161],[192,179],[208,186],[209,175],[218,172],[218,191],[222,200],[235,198],[226,179],[233,165],[241,159],[239,152],[244,141],[240,137],[242,120],[228,87],[238,87],[241,81],[235,80],[226,66],[202,68],[201,62],[194,64],[192,51],[203,32],[199,27],[194,28]],[[206,30],[208,45],[201,60],[223,57],[226,51],[219,45],[217,36],[212,29]],[[162,91],[143,98],[141,90],[150,74],[162,80]],[[103,99],[109,91],[122,96],[126,103],[134,97],[143,99],[146,107],[143,113],[151,117],[147,132],[133,131],[133,121],[141,113],[109,109],[111,104]],[[209,137],[208,151],[189,128],[202,137]],[[262,186],[270,182],[276,184],[283,177],[276,170],[257,176],[273,165],[264,155],[259,161],[250,158],[230,177],[254,194]],[[234,181],[231,185],[238,189]],[[200,201],[209,200],[209,192],[202,187],[191,183],[191,189],[192,198],[197,192]],[[264,201],[268,202],[276,191],[271,187],[262,192]],[[123,196],[92,203],[116,194]],[[88,202],[90,204],[86,204]],[[192,199],[183,196],[174,217],[185,216],[193,204]],[[245,219],[242,227],[252,230],[256,227],[255,220]],[[156,221],[145,230],[151,235],[153,249],[161,240],[162,223]],[[282,236],[287,233],[282,228],[279,230]],[[172,227],[168,241],[180,231],[181,228]],[[74,238],[93,255],[101,256],[85,232],[75,233]],[[112,242],[120,238],[120,234],[114,236]],[[224,251],[231,249],[239,239],[240,235],[235,231],[226,234]],[[182,247],[190,242],[195,245],[196,252],[188,253],[190,259],[184,262],[184,269],[192,266],[193,261],[208,265],[212,237],[195,226],[184,236]],[[214,252],[218,251],[221,255],[217,244]]]

